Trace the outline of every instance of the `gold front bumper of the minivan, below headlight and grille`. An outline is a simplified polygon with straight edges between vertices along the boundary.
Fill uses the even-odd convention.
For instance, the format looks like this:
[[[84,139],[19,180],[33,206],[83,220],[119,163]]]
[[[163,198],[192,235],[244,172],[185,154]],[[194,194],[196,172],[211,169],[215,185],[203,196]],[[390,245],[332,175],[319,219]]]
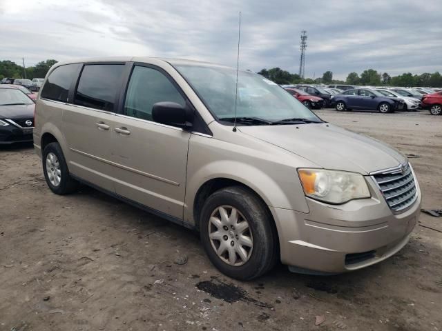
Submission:
[[[369,185],[376,192],[374,183]],[[418,221],[419,185],[416,201],[400,214],[394,214],[385,199],[376,195],[343,205],[307,198],[307,214],[270,208],[282,263],[294,272],[336,274],[365,268],[401,250]]]

